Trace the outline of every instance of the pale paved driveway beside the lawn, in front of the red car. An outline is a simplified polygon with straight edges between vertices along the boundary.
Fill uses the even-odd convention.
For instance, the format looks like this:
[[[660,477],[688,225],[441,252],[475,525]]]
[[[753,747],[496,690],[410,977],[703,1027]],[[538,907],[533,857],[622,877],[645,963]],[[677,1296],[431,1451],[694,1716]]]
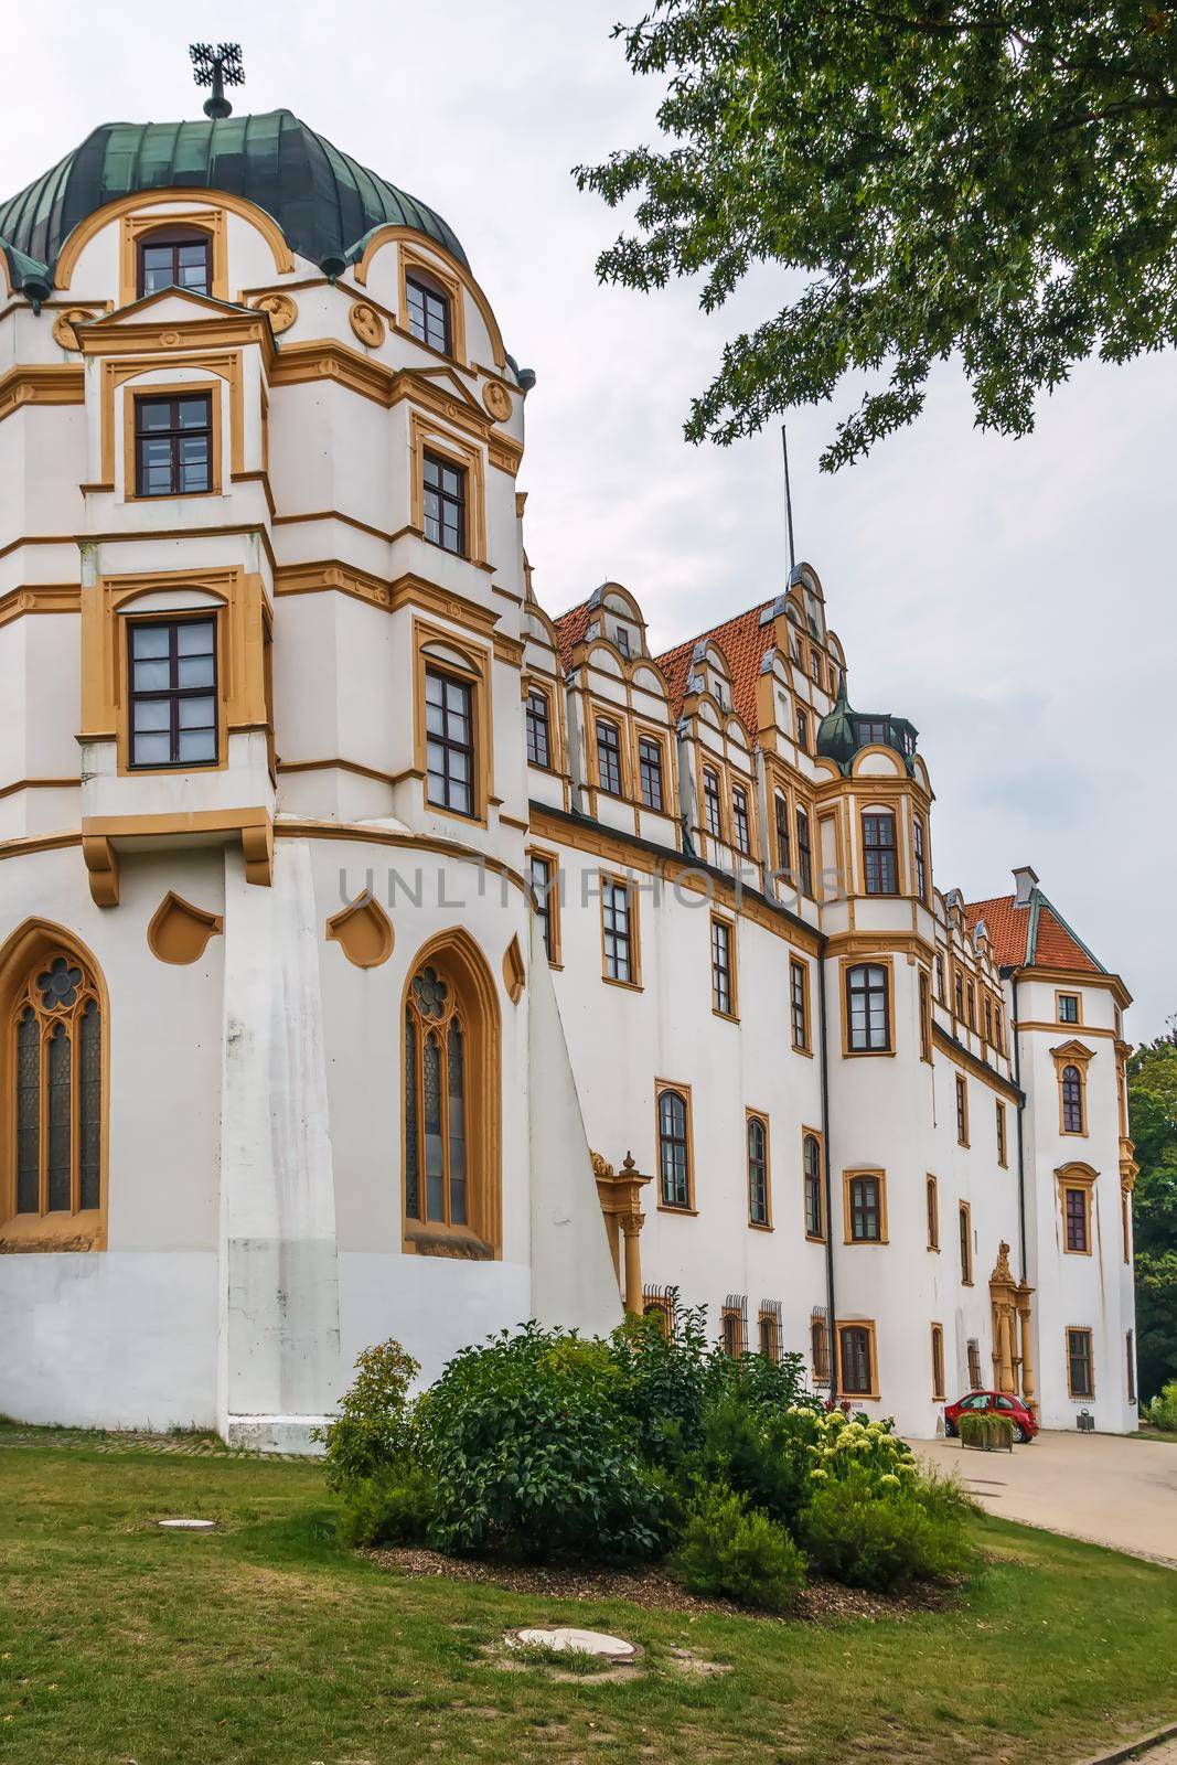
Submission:
[[[912,1440],[993,1514],[1177,1567],[1177,1446],[1119,1435],[1039,1433],[1013,1453]]]

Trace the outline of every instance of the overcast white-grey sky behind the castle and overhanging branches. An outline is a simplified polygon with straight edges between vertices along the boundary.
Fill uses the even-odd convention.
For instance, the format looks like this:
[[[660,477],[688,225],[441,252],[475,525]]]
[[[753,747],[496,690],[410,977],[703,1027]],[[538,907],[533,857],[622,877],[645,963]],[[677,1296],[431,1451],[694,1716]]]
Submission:
[[[454,226],[521,364],[528,549],[561,612],[603,577],[641,598],[656,648],[776,593],[787,556],[780,438],[692,448],[681,424],[722,341],[783,300],[761,272],[715,318],[697,289],[598,288],[618,217],[570,178],[653,136],[658,90],[611,41],[642,0],[145,0],[7,9],[18,79],[0,113],[0,198],[101,122],[199,115],[187,32],[240,39],[238,108],[288,106]],[[791,417],[798,552],[819,572],[861,708],[919,729],[937,791],[935,877],[972,897],[1032,863],[1136,1006],[1177,1011],[1172,355],[1085,365],[1038,431],[972,429],[946,365],[907,434],[835,478],[817,455],[854,402]]]

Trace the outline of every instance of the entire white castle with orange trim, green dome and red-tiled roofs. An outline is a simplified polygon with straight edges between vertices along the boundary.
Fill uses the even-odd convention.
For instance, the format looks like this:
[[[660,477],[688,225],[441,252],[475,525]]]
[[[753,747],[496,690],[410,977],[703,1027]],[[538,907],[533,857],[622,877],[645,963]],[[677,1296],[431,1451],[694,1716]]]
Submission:
[[[533,383],[288,111],[0,205],[0,1410],[298,1449],[374,1341],[678,1294],[1133,1428],[1124,983],[935,886],[808,565],[540,605]]]

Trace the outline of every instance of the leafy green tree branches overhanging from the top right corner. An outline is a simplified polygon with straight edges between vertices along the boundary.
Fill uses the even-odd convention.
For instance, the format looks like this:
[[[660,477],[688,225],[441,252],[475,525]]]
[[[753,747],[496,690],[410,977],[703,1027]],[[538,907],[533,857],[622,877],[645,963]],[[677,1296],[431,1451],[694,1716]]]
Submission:
[[[665,141],[577,168],[637,199],[602,281],[699,275],[715,311],[755,265],[803,279],[727,344],[688,439],[884,371],[833,471],[911,422],[953,351],[976,422],[1025,434],[1073,362],[1177,337],[1170,0],[655,0],[616,34],[667,83]]]

